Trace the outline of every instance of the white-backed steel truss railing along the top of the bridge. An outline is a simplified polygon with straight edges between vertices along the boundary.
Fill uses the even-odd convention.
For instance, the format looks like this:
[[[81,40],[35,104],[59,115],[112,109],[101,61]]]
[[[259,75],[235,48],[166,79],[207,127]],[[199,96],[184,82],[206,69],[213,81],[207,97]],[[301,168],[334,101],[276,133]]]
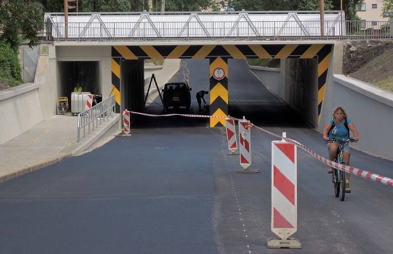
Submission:
[[[312,40],[392,38],[393,22],[345,21],[339,11],[211,13],[46,13],[55,41]]]

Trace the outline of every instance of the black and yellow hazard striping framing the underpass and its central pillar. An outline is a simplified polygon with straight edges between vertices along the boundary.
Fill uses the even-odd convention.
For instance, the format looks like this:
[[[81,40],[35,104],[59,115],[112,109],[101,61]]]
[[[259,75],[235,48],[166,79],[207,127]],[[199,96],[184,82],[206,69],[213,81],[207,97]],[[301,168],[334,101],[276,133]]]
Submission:
[[[120,105],[120,58],[163,59],[191,58],[210,59],[210,113],[226,115],[228,110],[227,59],[246,58],[314,58],[318,59],[318,119],[320,117],[326,79],[331,58],[331,44],[269,44],[269,45],[141,45],[112,46],[112,88],[116,103]],[[226,77],[220,82],[212,81],[212,66],[225,63]],[[213,68],[214,69],[214,68]],[[224,81],[225,80],[225,81]],[[220,84],[220,85],[219,85]],[[213,92],[212,90],[215,89]],[[118,96],[117,96],[118,95]],[[210,120],[210,126],[224,125],[224,121]]]

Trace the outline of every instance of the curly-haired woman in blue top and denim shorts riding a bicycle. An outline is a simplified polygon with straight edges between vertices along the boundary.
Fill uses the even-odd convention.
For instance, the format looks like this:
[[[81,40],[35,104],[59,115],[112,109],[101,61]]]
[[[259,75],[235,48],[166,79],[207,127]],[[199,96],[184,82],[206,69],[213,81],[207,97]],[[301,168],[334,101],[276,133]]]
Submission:
[[[337,107],[333,111],[332,118],[326,123],[323,129],[323,140],[329,141],[331,139],[336,140],[347,140],[349,139],[349,130],[353,133],[353,139],[359,141],[358,130],[355,125],[348,118],[348,114],[345,112],[343,107]],[[334,161],[337,156],[338,144],[336,142],[328,143],[329,160]],[[349,158],[351,157],[351,151],[349,149],[348,142],[344,145],[344,162],[345,165],[349,165]],[[333,173],[333,168],[328,168],[328,173]],[[345,181],[345,192],[351,193],[351,187],[349,186],[349,173],[346,173]]]

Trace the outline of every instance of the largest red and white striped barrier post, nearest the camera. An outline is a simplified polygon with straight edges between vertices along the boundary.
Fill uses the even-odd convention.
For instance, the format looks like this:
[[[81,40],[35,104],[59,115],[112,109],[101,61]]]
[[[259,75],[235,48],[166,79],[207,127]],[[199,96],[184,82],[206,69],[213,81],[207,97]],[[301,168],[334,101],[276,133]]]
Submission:
[[[289,238],[297,231],[297,149],[284,140],[272,141],[271,227],[281,239],[269,240],[268,248],[302,248],[299,240]]]

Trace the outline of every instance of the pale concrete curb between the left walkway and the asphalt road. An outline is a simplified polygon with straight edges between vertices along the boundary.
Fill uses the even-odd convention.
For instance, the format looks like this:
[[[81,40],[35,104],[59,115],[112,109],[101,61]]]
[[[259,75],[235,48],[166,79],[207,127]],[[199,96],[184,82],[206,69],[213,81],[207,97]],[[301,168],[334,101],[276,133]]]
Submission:
[[[16,172],[12,172],[6,175],[3,175],[0,177],[0,183],[5,182],[9,179],[12,179],[14,177],[18,177],[24,174],[27,174],[29,172],[35,171],[37,169],[42,169],[47,166],[51,166],[55,163],[58,163],[60,161],[63,161],[65,159],[68,159],[70,157],[75,156],[77,153],[83,152],[84,150],[88,149],[92,144],[94,144],[95,141],[97,141],[99,138],[101,138],[113,125],[118,123],[120,119],[120,114],[117,114],[115,117],[113,117],[113,120],[111,122],[107,122],[106,126],[102,129],[99,130],[99,132],[95,132],[94,135],[90,135],[86,141],[81,143],[80,145],[77,146],[77,148],[73,149],[71,152],[66,153],[65,155],[57,156],[54,159],[50,159],[49,161],[38,163],[32,166],[28,166],[24,169],[20,169]],[[61,154],[61,152],[59,153]]]

